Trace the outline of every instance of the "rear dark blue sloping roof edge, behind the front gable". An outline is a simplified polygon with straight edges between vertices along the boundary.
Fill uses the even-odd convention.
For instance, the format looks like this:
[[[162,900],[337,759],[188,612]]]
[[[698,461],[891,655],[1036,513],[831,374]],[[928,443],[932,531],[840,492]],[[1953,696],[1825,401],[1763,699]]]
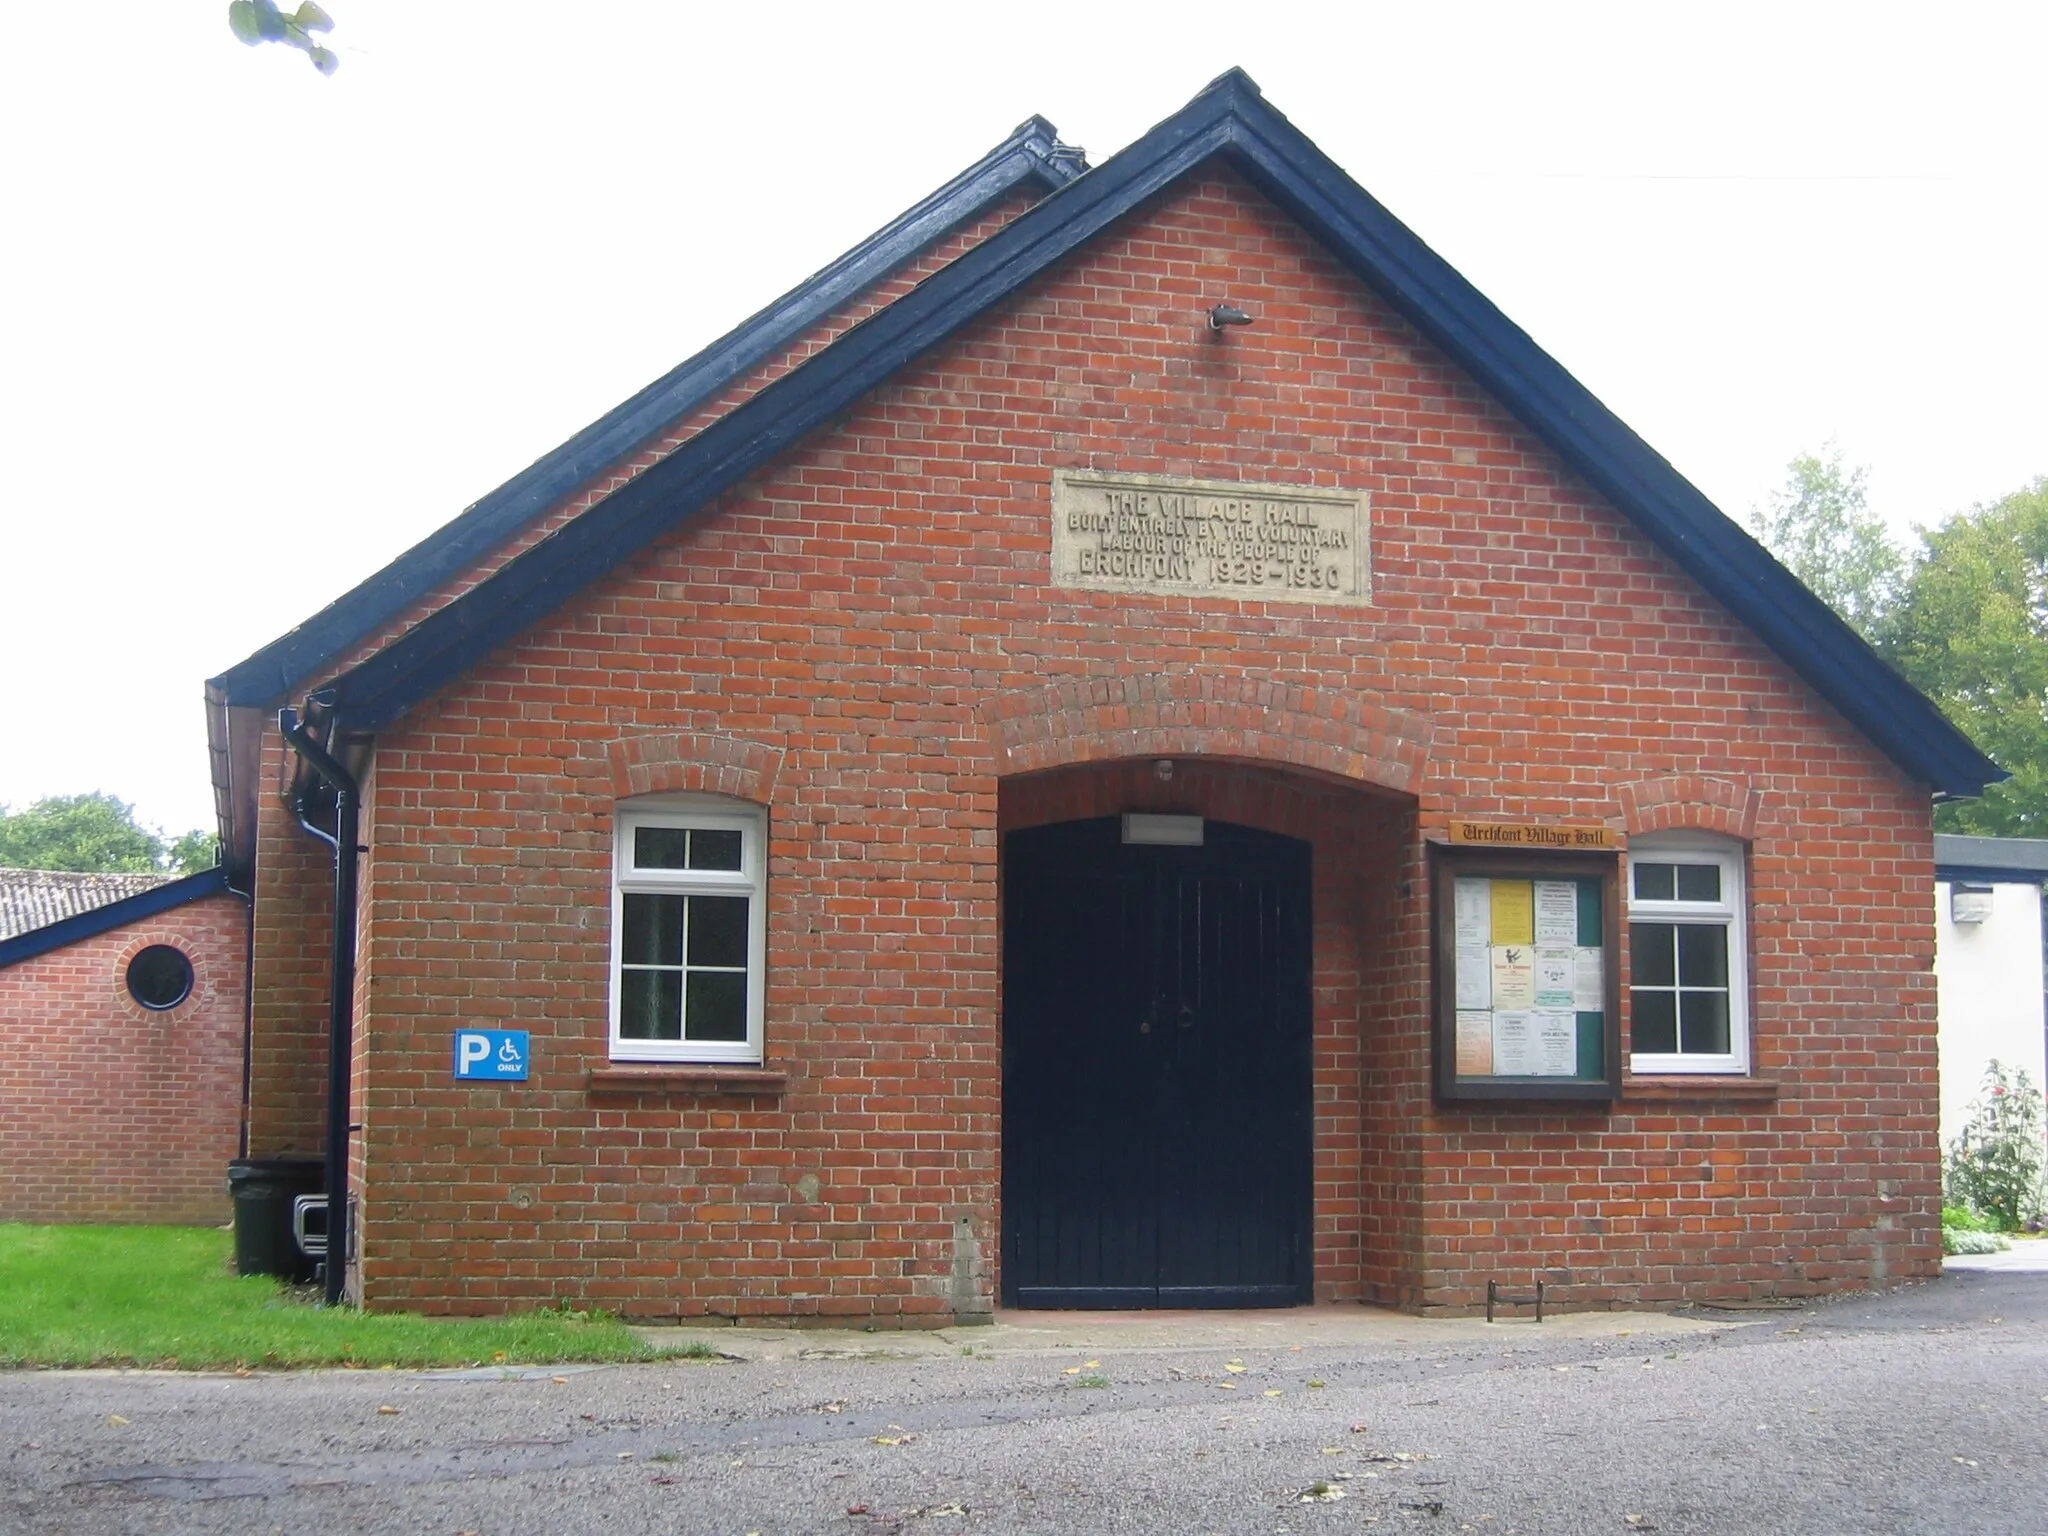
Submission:
[[[1020,188],[1057,190],[1085,170],[1087,158],[1061,143],[1059,129],[1042,117],[1026,119],[973,166],[821,272],[530,463],[291,633],[227,668],[207,684],[209,696],[217,707],[285,702],[295,686],[346,659],[379,629],[475,567],[563,496],[713,401],[721,389],[801,340],[932,242]]]

